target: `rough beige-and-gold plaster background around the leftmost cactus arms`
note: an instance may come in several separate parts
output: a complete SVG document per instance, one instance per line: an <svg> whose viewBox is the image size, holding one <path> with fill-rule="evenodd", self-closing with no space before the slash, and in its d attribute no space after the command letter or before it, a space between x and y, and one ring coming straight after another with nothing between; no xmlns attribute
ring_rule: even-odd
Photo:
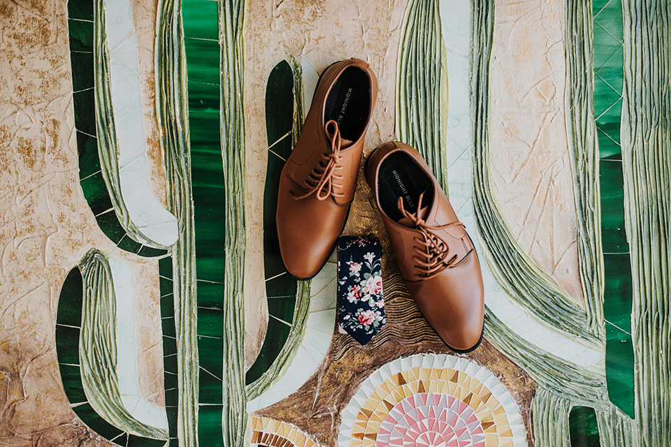
<svg viewBox="0 0 671 447"><path fill-rule="evenodd" d="M148 85L154 13L151 5L135 11L148 30L140 38L140 78ZM149 107L153 94L146 98ZM163 399L157 265L120 253L98 228L79 186L73 124L66 1L0 2L2 445L106 444L71 411L55 351L60 288L91 247L131 263L142 298L136 309L143 315L137 321L140 390L157 406ZM160 185L160 164L150 166Z"/></svg>

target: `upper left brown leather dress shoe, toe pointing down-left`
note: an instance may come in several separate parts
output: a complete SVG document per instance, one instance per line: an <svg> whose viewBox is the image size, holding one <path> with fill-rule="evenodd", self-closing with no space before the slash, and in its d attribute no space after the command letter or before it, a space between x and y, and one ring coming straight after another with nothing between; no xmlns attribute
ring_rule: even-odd
<svg viewBox="0 0 671 447"><path fill-rule="evenodd" d="M375 73L361 59L337 62L319 78L277 194L280 253L294 277L315 276L335 249L376 97Z"/></svg>

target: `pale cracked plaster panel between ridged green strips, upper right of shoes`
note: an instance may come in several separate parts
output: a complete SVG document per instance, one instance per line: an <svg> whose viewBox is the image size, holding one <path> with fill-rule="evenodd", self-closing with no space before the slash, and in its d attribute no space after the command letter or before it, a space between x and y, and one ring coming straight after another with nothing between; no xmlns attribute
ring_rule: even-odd
<svg viewBox="0 0 671 447"><path fill-rule="evenodd" d="M561 0L496 2L490 181L521 246L584 305L565 125L564 13Z"/></svg>

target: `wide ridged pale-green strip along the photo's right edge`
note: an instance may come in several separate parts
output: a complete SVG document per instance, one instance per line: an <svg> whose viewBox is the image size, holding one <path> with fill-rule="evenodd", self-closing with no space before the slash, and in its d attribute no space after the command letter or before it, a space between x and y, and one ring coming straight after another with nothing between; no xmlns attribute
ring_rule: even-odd
<svg viewBox="0 0 671 447"><path fill-rule="evenodd" d="M671 445L671 3L624 0L622 168L642 446Z"/></svg>

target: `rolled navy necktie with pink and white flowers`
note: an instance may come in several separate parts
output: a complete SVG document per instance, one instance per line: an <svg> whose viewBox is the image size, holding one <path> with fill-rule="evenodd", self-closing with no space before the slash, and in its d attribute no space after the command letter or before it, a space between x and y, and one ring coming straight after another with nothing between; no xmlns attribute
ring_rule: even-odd
<svg viewBox="0 0 671 447"><path fill-rule="evenodd" d="M366 344L384 326L380 242L361 236L338 239L340 331Z"/></svg>

